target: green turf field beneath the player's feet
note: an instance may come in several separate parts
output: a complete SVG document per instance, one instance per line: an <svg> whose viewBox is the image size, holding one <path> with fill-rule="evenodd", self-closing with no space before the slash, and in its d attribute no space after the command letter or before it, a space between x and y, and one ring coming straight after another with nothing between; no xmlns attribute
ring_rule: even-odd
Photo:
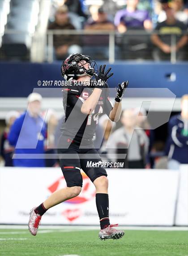
<svg viewBox="0 0 188 256"><path fill-rule="evenodd" d="M19 240L18 240L19 238ZM188 256L186 231L125 230L120 240L98 239L97 230L0 230L0 256Z"/></svg>

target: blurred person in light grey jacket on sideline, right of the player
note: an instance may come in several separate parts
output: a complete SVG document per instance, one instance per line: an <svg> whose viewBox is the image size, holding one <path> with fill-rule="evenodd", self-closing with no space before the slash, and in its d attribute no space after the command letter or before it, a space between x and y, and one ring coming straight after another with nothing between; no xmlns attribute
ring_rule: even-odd
<svg viewBox="0 0 188 256"><path fill-rule="evenodd" d="M115 130L107 142L108 158L116 162L124 162L123 168L145 168L149 140L145 132L137 126L135 109L122 112L123 127ZM113 149L111 146L113 145ZM118 159L118 155L127 154L126 158Z"/></svg>

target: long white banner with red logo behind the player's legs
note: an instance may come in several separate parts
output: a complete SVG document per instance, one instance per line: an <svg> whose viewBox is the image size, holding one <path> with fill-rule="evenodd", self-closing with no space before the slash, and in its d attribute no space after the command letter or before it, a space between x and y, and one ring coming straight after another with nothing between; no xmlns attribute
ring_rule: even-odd
<svg viewBox="0 0 188 256"><path fill-rule="evenodd" d="M178 171L108 169L107 173L112 224L174 224ZM60 168L2 167L0 183L1 224L27 224L32 207L66 187ZM81 194L49 209L42 224L99 224L95 188L85 174Z"/></svg>

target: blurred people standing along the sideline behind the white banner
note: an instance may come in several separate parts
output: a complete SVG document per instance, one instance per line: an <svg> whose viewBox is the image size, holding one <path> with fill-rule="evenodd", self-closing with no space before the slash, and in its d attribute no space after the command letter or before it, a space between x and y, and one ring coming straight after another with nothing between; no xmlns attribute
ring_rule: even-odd
<svg viewBox="0 0 188 256"><path fill-rule="evenodd" d="M42 101L32 93L26 111L7 114L0 146L4 166L59 166L56 148L64 116L59 119L52 109L42 112ZM118 123L101 116L94 144L103 162L123 162L123 168L179 169L188 164L188 94L181 99L181 112L168 122L166 141L155 138L147 112L133 108L124 109Z"/></svg>

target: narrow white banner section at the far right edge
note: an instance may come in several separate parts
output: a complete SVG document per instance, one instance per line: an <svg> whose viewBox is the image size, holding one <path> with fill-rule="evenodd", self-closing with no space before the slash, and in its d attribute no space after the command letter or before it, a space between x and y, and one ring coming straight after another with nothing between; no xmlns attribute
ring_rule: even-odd
<svg viewBox="0 0 188 256"><path fill-rule="evenodd" d="M180 165L179 194L175 225L188 226L188 165Z"/></svg>

